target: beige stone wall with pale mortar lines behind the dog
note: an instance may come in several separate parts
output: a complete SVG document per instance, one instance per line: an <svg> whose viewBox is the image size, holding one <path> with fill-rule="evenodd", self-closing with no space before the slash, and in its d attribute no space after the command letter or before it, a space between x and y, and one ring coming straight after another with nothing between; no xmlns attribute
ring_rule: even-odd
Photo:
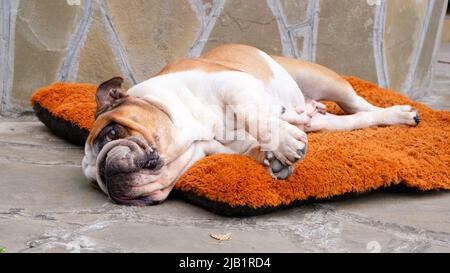
<svg viewBox="0 0 450 273"><path fill-rule="evenodd" d="M128 86L223 43L326 65L402 91L429 88L447 0L0 0L0 113L54 81Z"/></svg>

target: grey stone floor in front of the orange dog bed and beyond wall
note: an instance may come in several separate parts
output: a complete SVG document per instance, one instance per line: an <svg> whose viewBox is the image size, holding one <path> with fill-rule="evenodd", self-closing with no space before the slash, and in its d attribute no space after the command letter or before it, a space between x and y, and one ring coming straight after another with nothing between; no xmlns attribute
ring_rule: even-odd
<svg viewBox="0 0 450 273"><path fill-rule="evenodd" d="M450 61L444 49L440 60ZM424 101L449 109L450 64L439 63L436 76ZM0 248L8 252L450 252L449 192L379 192L224 218L179 200L112 204L84 179L82 149L34 119L0 119L0 150Z"/></svg>

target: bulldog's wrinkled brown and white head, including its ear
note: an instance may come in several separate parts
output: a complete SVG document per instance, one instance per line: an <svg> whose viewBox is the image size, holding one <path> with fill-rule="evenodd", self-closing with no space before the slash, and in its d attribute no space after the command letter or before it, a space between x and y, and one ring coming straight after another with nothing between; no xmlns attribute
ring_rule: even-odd
<svg viewBox="0 0 450 273"><path fill-rule="evenodd" d="M122 83L122 78L113 78L97 90L83 171L116 203L157 204L174 186L164 170L175 129L169 113L128 96Z"/></svg>

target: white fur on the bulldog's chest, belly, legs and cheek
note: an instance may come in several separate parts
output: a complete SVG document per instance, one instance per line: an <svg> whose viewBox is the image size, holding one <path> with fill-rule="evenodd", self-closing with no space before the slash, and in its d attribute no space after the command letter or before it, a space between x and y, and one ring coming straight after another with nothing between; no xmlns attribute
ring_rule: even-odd
<svg viewBox="0 0 450 273"><path fill-rule="evenodd" d="M272 151L286 166L295 163L300 159L298 151L306 145L306 135L302 131L305 120L311 122L306 127L308 131L353 130L380 124L414 123L417 113L411 107L374 107L358 97L353 90L350 90L353 93L350 93L348 100L352 101L348 101L348 105L356 113L354 115L317 114L311 119L306 117L306 113L299 114L296 112L298 107L308 109L315 102L308 100L305 105L302 90L291 75L266 53L259 53L272 70L273 77L267 83L244 72L205 72L194 69L160 75L128 90L130 96L148 100L164 108L177 129L177 134L170 140L170 147L164 151L167 164L161 178L147 186L151 187L155 199L164 200L178 177L209 154L246 154L257 148ZM334 87L333 80L326 84L330 85L327 92L332 90L336 98L340 94L349 94L349 90ZM315 83L311 80L305 86L313 88ZM305 92L313 93L313 90ZM321 98L321 94L316 95ZM227 116L228 108L236 115L245 113L244 120L248 124L256 123L257 131L248 131L244 126L227 126L227 121L234 120L234 115ZM283 115L282 108L286 110ZM255 118L252 116L254 114ZM265 120L274 121L275 124L272 125L275 126L264 126ZM230 131L242 134L244 138L221 138L224 132ZM107 192L105 185L97 177L96 155L90 145L86 145L83 171L86 177L91 181L97 180L102 190Z"/></svg>

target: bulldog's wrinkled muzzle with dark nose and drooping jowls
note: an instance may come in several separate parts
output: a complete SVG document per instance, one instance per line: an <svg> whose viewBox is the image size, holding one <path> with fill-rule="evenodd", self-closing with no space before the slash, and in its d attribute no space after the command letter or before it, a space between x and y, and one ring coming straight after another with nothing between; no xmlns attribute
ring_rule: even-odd
<svg viewBox="0 0 450 273"><path fill-rule="evenodd" d="M152 194L161 190L152 183L161 176L164 160L138 137L106 144L97 157L98 178L109 197L126 205L155 205ZM154 183L156 184L156 183Z"/></svg>

